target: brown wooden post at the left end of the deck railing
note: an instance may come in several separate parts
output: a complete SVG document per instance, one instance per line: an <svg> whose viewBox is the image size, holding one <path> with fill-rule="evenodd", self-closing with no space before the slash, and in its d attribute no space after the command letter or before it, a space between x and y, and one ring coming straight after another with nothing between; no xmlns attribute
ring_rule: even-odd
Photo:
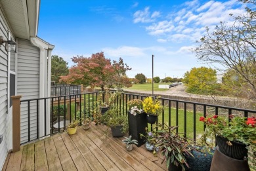
<svg viewBox="0 0 256 171"><path fill-rule="evenodd" d="M12 152L20 151L20 98L12 98Z"/></svg>

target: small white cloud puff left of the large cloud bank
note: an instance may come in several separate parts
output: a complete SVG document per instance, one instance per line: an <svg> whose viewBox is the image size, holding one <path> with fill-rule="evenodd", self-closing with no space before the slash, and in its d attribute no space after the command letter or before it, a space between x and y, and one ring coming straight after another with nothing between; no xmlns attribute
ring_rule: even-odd
<svg viewBox="0 0 256 171"><path fill-rule="evenodd" d="M150 7L145 7L144 10L137 10L133 14L133 22L134 23L154 22L154 20L156 20L156 18L158 18L160 16L160 12L159 11L154 11L152 13L152 15L150 16L151 12L149 10L150 10Z"/></svg>

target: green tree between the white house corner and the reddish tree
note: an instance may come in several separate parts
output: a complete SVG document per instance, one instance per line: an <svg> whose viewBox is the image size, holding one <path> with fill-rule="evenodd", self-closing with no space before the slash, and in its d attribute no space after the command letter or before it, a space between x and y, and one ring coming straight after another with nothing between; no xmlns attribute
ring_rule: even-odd
<svg viewBox="0 0 256 171"><path fill-rule="evenodd" d="M68 62L58 55L53 55L51 63L51 81L60 83L60 76L68 75Z"/></svg>

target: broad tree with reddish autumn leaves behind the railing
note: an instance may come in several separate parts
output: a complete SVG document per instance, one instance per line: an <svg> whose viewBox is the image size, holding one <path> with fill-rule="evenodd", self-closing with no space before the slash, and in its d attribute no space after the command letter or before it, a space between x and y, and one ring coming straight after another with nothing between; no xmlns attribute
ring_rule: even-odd
<svg viewBox="0 0 256 171"><path fill-rule="evenodd" d="M65 83L99 86L101 90L104 90L105 86L110 88L131 86L126 76L126 71L131 68L123 63L122 58L119 58L118 62L114 60L112 64L110 59L105 58L104 52L98 52L89 58L73 57L72 61L75 66L70 67L68 75L61 77Z"/></svg>

